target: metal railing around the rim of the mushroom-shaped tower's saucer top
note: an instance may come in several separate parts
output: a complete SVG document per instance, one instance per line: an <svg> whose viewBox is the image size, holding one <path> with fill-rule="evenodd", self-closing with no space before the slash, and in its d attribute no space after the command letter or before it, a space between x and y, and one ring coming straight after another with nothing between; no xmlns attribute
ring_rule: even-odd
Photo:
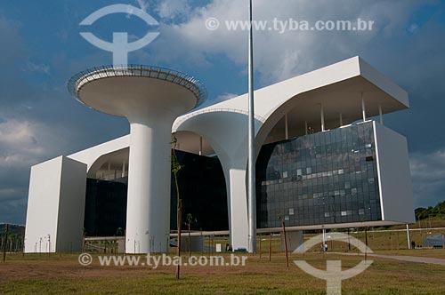
<svg viewBox="0 0 445 295"><path fill-rule="evenodd" d="M128 65L126 67L101 66L89 68L77 73L69 79L68 91L78 100L78 93L85 84L95 80L117 76L143 76L181 85L195 95L197 98L196 107L200 106L207 99L206 87L193 76L168 68L144 65Z"/></svg>

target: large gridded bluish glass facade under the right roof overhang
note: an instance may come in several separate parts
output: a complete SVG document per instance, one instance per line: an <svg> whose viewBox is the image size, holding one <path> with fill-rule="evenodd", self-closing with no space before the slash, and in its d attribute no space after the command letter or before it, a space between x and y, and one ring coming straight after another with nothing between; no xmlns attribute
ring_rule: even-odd
<svg viewBox="0 0 445 295"><path fill-rule="evenodd" d="M256 189L257 227L380 220L373 123L264 145Z"/></svg>

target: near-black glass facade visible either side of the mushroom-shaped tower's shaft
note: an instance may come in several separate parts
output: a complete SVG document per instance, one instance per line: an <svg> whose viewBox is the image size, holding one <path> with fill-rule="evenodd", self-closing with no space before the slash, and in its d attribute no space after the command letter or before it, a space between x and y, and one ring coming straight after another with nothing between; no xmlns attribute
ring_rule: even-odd
<svg viewBox="0 0 445 295"><path fill-rule="evenodd" d="M176 151L183 165L178 173L182 198L182 219L187 214L197 221L192 230L227 230L227 195L223 168L217 158ZM172 173L170 228L176 229L176 187ZM126 227L127 178L116 180L87 179L84 227L86 235L116 235Z"/></svg>

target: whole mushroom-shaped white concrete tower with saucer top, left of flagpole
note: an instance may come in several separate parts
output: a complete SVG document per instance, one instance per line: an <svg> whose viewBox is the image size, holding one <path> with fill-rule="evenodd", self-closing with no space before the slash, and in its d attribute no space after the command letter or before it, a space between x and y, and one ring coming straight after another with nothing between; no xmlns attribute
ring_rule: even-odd
<svg viewBox="0 0 445 295"><path fill-rule="evenodd" d="M166 252L170 233L171 132L174 120L206 100L191 76L165 68L103 67L71 78L85 105L130 123L127 253Z"/></svg>

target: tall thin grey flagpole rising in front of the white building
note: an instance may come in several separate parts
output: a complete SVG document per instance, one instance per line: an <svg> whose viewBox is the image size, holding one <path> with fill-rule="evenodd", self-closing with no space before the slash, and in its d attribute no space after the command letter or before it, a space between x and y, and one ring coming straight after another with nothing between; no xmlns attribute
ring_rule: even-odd
<svg viewBox="0 0 445 295"><path fill-rule="evenodd" d="M252 0L249 0L249 53L248 53L248 251L256 251L256 198L255 198L255 106L254 106L254 31L252 26Z"/></svg>

